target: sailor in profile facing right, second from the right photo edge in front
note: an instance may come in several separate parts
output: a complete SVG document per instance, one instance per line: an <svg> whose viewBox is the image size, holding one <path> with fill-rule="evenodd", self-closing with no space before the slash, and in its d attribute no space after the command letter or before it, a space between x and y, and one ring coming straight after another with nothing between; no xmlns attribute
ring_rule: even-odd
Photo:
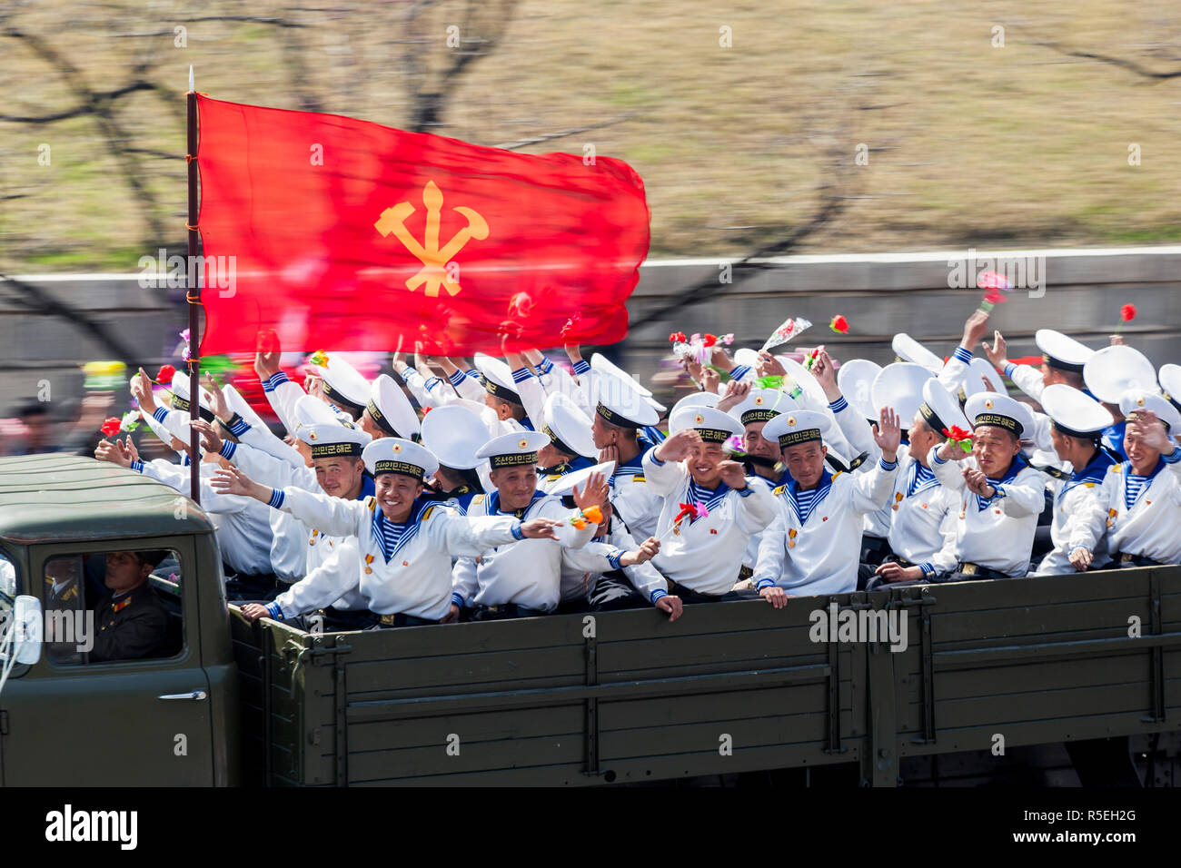
<svg viewBox="0 0 1181 868"><path fill-rule="evenodd" d="M1052 420L1055 450L1070 472L1065 478L1050 479L1048 485L1055 492L1050 526L1053 549L1042 559L1037 573L1053 575L1103 569L1109 561L1103 482L1116 458L1102 446L1102 437L1113 423L1111 413L1094 398L1064 383L1045 386L1040 400Z"/></svg>

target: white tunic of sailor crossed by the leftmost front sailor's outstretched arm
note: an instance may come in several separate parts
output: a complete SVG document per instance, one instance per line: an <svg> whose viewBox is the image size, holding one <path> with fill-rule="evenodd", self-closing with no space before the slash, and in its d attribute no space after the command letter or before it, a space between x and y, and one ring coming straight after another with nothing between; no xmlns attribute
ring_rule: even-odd
<svg viewBox="0 0 1181 868"><path fill-rule="evenodd" d="M468 516L498 516L500 492L477 495ZM540 612L553 612L561 600L562 550L582 548L590 541L595 524L581 530L569 524L573 513L562 502L540 491L533 502L514 514L521 521L555 518L559 540L521 540L497 546L479 557L461 557L451 573L451 601L457 606L502 606L516 603Z"/></svg>

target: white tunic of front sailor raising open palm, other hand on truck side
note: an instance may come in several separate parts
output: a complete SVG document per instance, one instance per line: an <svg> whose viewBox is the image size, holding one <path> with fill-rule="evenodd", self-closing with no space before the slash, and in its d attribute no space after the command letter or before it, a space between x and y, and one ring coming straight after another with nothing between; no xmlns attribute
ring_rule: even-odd
<svg viewBox="0 0 1181 868"><path fill-rule="evenodd" d="M763 531L755 587L778 585L798 595L856 589L862 517L886 503L896 474L898 462L879 459L866 474L824 470L808 491L795 481L777 488L777 515Z"/></svg>

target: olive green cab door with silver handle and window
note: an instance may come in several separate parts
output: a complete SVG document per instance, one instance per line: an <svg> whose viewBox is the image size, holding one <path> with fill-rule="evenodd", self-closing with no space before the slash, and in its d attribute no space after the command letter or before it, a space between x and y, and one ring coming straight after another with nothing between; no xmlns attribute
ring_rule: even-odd
<svg viewBox="0 0 1181 868"><path fill-rule="evenodd" d="M41 600L45 641L0 696L5 785L213 784L195 550L183 537L148 546L28 549L17 581Z"/></svg>

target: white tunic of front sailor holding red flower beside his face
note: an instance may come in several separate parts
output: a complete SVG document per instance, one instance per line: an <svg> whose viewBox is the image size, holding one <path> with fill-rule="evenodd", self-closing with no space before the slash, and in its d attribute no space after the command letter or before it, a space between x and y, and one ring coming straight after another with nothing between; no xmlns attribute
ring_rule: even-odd
<svg viewBox="0 0 1181 868"><path fill-rule="evenodd" d="M955 560L996 569L1009 576L1025 575L1033 550L1037 520L1045 509L1045 477L1018 455L991 500L967 490L964 468L979 470L974 457L941 461L932 450L931 469L947 490L955 528ZM955 510L959 510L958 513Z"/></svg>

